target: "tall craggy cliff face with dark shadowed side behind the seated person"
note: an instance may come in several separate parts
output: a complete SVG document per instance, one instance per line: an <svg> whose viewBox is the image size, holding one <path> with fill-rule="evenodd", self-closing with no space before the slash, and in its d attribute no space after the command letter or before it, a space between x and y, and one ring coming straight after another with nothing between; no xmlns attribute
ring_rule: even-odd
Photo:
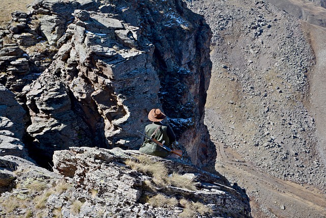
<svg viewBox="0 0 326 218"><path fill-rule="evenodd" d="M28 112L32 157L138 149L136 130L159 107L192 161L213 166L203 124L211 32L182 1L45 0L12 15L0 32L0 82Z"/></svg>

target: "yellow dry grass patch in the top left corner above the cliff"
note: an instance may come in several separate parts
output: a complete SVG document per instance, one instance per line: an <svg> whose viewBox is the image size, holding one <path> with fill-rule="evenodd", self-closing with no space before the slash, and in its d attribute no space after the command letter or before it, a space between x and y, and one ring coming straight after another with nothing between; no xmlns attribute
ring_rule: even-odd
<svg viewBox="0 0 326 218"><path fill-rule="evenodd" d="M0 25L10 21L11 13L14 11L27 12L27 5L31 4L33 0L2 0L0 4Z"/></svg>

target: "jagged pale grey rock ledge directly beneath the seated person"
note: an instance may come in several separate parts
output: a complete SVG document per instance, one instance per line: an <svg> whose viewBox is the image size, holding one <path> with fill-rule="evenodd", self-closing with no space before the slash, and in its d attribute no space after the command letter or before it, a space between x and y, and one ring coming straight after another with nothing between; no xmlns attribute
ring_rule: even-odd
<svg viewBox="0 0 326 218"><path fill-rule="evenodd" d="M163 163L169 175L178 173L193 178L196 190L172 185L149 190L146 181L152 181L152 175L135 171L125 164L128 159L137 161L140 155L143 154L120 148L107 150L73 147L69 151L55 152L53 171L70 178L71 182L78 184L80 190L83 190L79 194L85 195L84 205L88 206L79 215L83 213L88 216L92 211L104 209L111 211L115 217L179 217L183 208L178 205L155 208L144 202L144 199L160 193L166 197L173 196L177 200L200 202L212 209L213 212L209 215L211 217L226 217L230 214L249 217L249 199L240 187L231 186L217 172L211 174L202 171L183 160L148 156L154 162ZM90 192L96 192L96 197L90 199Z"/></svg>

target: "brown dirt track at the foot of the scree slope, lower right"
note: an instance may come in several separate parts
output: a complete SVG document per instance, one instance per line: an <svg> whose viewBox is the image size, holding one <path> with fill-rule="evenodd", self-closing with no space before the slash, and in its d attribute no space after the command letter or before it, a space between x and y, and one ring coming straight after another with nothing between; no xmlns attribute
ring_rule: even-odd
<svg viewBox="0 0 326 218"><path fill-rule="evenodd" d="M317 188L264 174L223 143L214 143L216 169L246 188L254 217L326 217L326 196Z"/></svg>

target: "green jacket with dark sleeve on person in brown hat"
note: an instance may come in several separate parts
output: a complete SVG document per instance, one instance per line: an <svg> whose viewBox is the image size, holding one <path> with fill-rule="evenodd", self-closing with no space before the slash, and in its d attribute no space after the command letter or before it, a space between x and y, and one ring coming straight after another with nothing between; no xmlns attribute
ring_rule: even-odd
<svg viewBox="0 0 326 218"><path fill-rule="evenodd" d="M157 141L161 143L165 141L164 145L169 148L172 148L172 142L175 141L175 135L172 129L168 125L161 124L159 122L154 122L152 124L149 124L145 127L145 135L151 137L151 135L155 132L158 126L161 127L153 135L153 138L155 138ZM158 157L166 157L169 155L168 151L162 149L155 142L152 142L147 138L145 138L139 151L145 154L154 155Z"/></svg>

